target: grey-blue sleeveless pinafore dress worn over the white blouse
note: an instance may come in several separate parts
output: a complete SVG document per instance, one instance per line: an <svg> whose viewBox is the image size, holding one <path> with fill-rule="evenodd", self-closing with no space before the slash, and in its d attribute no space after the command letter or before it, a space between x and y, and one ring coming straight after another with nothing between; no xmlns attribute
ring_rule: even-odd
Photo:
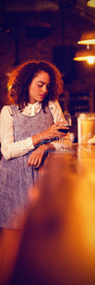
<svg viewBox="0 0 95 285"><path fill-rule="evenodd" d="M46 130L53 124L48 106L35 116L23 115L16 105L11 105L13 113L14 141L25 140ZM0 162L0 227L21 228L23 213L29 205L28 189L38 181L38 170L28 167L30 153L11 160L2 157Z"/></svg>

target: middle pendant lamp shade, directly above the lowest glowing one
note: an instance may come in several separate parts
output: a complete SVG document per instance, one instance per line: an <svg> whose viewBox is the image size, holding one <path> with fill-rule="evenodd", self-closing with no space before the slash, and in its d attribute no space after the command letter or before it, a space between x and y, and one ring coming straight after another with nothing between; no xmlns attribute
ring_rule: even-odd
<svg viewBox="0 0 95 285"><path fill-rule="evenodd" d="M84 32L78 43L80 45L95 45L95 30Z"/></svg>

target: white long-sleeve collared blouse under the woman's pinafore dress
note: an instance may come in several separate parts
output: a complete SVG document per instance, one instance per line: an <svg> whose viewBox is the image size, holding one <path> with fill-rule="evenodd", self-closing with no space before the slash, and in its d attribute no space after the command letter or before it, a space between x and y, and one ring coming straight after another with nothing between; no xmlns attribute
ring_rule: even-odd
<svg viewBox="0 0 95 285"><path fill-rule="evenodd" d="M35 104L28 104L23 109L23 114L26 116L35 116L36 113L40 111L41 104L36 102ZM62 109L60 104L56 100L55 102L49 102L49 108L52 113L54 123L61 121L63 117ZM20 157L26 155L30 150L33 150L32 138L26 138L25 140L20 140L14 142L13 137L13 116L11 116L11 106L4 106L1 109L1 153L4 155L6 160L11 160L13 157ZM60 150L60 141L53 141L52 145L55 146L56 150Z"/></svg>

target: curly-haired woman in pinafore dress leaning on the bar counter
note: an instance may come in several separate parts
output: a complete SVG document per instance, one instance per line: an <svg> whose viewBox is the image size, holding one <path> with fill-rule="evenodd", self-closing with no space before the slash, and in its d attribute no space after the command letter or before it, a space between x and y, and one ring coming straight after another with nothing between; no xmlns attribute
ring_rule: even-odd
<svg viewBox="0 0 95 285"><path fill-rule="evenodd" d="M38 167L48 150L60 150L65 133L57 98L62 77L47 62L26 62L9 79L12 105L1 110L1 217L2 228L21 227L28 206L28 188L38 181Z"/></svg>

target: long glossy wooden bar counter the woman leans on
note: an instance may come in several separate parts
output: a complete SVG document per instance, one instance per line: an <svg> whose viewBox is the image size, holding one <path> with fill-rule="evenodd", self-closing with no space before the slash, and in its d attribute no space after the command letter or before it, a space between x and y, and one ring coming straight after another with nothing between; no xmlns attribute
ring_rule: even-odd
<svg viewBox="0 0 95 285"><path fill-rule="evenodd" d="M47 156L9 285L95 284L94 173L94 145Z"/></svg>

